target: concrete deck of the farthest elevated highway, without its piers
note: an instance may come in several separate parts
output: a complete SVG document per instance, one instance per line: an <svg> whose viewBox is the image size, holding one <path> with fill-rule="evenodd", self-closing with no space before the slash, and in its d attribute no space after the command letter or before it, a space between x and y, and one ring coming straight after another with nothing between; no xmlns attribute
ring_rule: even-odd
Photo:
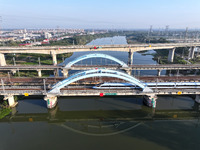
<svg viewBox="0 0 200 150"><path fill-rule="evenodd" d="M157 49L173 49L177 47L198 47L198 43L158 43L158 44L126 44L126 45L98 45L96 49L94 46L79 45L79 46L37 46L37 47L0 47L0 53L37 53L37 54L56 54L83 52L83 51L123 51L133 52L157 50Z"/></svg>

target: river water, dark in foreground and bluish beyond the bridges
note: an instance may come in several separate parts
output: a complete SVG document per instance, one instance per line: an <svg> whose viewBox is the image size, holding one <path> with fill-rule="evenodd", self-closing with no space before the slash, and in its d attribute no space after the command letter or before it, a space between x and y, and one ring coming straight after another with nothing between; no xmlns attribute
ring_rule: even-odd
<svg viewBox="0 0 200 150"><path fill-rule="evenodd" d="M114 37L89 44L124 42L124 37ZM102 53L124 62L128 58L124 52ZM74 53L66 63L83 54ZM156 62L151 55L135 53L134 64ZM0 120L0 150L199 150L200 106L191 97L159 96L156 109L144 106L142 97L137 96L58 100L53 110L46 109L42 98L19 100L12 114Z"/></svg>

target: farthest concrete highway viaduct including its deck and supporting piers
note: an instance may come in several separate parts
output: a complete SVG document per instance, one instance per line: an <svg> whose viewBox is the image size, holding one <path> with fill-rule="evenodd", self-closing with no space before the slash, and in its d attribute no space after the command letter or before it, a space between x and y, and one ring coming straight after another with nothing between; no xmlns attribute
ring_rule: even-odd
<svg viewBox="0 0 200 150"><path fill-rule="evenodd" d="M190 47L189 58L194 57L196 47L200 47L200 43L164 43L164 44L134 44L134 45L99 45L98 47L82 45L82 46L38 46L38 47L0 47L0 66L6 65L4 54L10 53L34 53L49 54L52 56L53 64L57 65L57 54L84 52L84 51L122 51L128 52L128 63L132 64L133 54L137 51L147 50L169 50L168 61L173 62L175 49L178 47Z"/></svg>

